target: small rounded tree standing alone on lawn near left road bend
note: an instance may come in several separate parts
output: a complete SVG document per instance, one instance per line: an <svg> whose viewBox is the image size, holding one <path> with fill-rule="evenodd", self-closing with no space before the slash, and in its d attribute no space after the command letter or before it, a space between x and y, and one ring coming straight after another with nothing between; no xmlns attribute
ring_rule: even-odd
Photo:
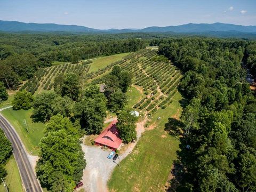
<svg viewBox="0 0 256 192"><path fill-rule="evenodd" d="M19 91L14 95L14 99L12 101L12 108L14 110L28 110L32 107L32 105L33 95L31 93L28 93L26 90Z"/></svg>

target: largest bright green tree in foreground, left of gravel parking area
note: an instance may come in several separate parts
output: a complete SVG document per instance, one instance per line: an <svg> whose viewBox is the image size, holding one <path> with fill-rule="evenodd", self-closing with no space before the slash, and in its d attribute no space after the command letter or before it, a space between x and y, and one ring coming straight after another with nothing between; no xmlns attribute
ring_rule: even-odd
<svg viewBox="0 0 256 192"><path fill-rule="evenodd" d="M65 130L49 132L39 143L36 175L47 190L73 191L85 168L84 153L76 137ZM59 180L61 179L61 180Z"/></svg>

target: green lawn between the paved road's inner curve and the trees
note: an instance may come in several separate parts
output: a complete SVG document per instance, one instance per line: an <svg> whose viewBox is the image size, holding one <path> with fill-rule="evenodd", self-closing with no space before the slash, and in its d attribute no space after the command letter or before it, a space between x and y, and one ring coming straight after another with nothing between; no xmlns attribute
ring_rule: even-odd
<svg viewBox="0 0 256 192"><path fill-rule="evenodd" d="M32 110L33 109L15 111L12 109L5 109L2 111L2 114L14 126L27 151L33 151L34 155L38 155L38 143L43 137L44 124L32 122L32 119L30 118ZM24 119L26 119L28 132L26 130Z"/></svg>

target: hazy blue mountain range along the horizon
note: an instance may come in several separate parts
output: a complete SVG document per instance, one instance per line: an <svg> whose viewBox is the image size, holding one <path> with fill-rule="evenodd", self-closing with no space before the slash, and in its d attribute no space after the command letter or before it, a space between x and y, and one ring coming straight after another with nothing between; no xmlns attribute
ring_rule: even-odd
<svg viewBox="0 0 256 192"><path fill-rule="evenodd" d="M24 23L18 21L1 21L0 31L5 32L54 32L63 31L70 33L256 33L256 26L242 26L227 23L188 23L179 26L147 27L143 29L93 29L77 25L58 25L55 23Z"/></svg>

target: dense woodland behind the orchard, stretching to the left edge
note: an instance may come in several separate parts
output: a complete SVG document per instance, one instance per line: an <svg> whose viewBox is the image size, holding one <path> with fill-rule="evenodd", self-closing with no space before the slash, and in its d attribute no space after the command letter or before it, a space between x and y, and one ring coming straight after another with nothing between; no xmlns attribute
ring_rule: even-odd
<svg viewBox="0 0 256 192"><path fill-rule="evenodd" d="M99 55L138 51L147 41L136 36L1 34L0 82L16 90L38 68L49 67L53 61L76 63Z"/></svg>

